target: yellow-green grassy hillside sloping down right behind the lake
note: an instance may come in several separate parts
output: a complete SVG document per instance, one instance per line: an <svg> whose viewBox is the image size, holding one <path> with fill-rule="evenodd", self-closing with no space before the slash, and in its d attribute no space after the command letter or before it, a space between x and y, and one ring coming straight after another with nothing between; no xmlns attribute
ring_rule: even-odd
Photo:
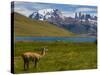
<svg viewBox="0 0 100 75"><path fill-rule="evenodd" d="M56 27L46 21L33 20L18 13L13 14L15 36L66 37L74 35L73 33Z"/></svg>

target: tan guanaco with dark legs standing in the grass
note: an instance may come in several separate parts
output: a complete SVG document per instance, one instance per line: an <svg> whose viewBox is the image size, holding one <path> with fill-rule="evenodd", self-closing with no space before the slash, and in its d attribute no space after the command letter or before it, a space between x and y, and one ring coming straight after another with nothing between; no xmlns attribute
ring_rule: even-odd
<svg viewBox="0 0 100 75"><path fill-rule="evenodd" d="M22 54L22 58L24 61L24 70L29 69L29 62L30 60L35 64L34 67L37 67L39 59L45 55L45 48L42 49L41 54L36 52L25 52Z"/></svg>

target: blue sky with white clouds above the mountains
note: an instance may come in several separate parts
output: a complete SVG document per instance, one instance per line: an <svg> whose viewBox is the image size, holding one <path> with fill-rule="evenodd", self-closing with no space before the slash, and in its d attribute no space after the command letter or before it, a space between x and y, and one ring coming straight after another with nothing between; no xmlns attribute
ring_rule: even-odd
<svg viewBox="0 0 100 75"><path fill-rule="evenodd" d="M34 2L14 2L14 9L16 12L29 16L34 10L40 9L59 9L66 16L74 16L75 12L88 13L97 15L96 6L81 6L81 5L68 5L68 4L51 4L51 3L34 3Z"/></svg>

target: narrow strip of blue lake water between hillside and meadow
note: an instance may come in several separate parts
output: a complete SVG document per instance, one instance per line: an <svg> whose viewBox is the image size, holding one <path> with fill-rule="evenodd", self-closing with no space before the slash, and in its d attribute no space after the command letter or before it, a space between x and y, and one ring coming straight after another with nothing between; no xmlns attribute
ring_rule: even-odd
<svg viewBox="0 0 100 75"><path fill-rule="evenodd" d="M16 37L16 41L65 41L65 42L94 42L96 38L88 37Z"/></svg>

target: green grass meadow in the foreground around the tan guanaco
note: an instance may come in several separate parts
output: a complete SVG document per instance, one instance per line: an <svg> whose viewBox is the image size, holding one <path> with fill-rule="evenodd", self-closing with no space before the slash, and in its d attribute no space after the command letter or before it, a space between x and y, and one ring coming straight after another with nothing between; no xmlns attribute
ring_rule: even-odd
<svg viewBox="0 0 100 75"><path fill-rule="evenodd" d="M30 63L28 71L23 70L20 55L36 48L48 46L48 52L40 59L38 68ZM16 42L14 50L14 72L34 73L49 71L67 71L97 68L97 47L95 43L67 43L67 42Z"/></svg>

